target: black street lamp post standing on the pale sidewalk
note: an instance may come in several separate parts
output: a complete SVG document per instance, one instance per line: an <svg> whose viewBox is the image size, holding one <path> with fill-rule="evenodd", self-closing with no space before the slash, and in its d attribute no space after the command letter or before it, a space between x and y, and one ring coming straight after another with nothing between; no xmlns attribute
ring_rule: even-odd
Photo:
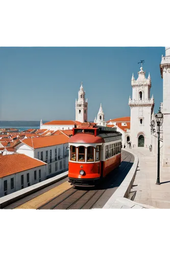
<svg viewBox="0 0 170 256"><path fill-rule="evenodd" d="M158 113L155 114L155 120L157 123L157 134L158 134L158 167L157 167L157 181L156 185L160 185L160 125L162 124L163 121L163 114L161 110L159 109ZM155 132L155 121L151 121L151 130Z"/></svg>

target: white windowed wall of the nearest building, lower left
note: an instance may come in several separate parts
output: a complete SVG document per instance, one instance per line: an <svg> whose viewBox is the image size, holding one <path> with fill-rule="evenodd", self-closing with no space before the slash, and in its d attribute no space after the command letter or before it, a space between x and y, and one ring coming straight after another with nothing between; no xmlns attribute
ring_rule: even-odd
<svg viewBox="0 0 170 256"><path fill-rule="evenodd" d="M4 181L7 180L7 195L18 191L21 189L21 175L23 175L23 188L28 187L28 182L27 182L27 174L30 174L30 186L34 185L39 182L39 169L41 170L41 181L46 179L46 175L48 175L48 169L46 168L46 165L39 166L37 168L25 170L23 172L9 175L6 177L3 177L0 179L0 197L5 196L5 191L4 191ZM37 177L36 180L34 179L34 171L37 171ZM14 178L14 188L11 189L11 178Z"/></svg>

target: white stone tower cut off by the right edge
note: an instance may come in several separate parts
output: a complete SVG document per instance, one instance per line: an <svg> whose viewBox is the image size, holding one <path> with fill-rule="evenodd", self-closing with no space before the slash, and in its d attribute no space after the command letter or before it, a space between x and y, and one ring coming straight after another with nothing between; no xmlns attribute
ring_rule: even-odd
<svg viewBox="0 0 170 256"><path fill-rule="evenodd" d="M160 64L163 78L163 166L170 166L170 45L165 46L165 57Z"/></svg>

